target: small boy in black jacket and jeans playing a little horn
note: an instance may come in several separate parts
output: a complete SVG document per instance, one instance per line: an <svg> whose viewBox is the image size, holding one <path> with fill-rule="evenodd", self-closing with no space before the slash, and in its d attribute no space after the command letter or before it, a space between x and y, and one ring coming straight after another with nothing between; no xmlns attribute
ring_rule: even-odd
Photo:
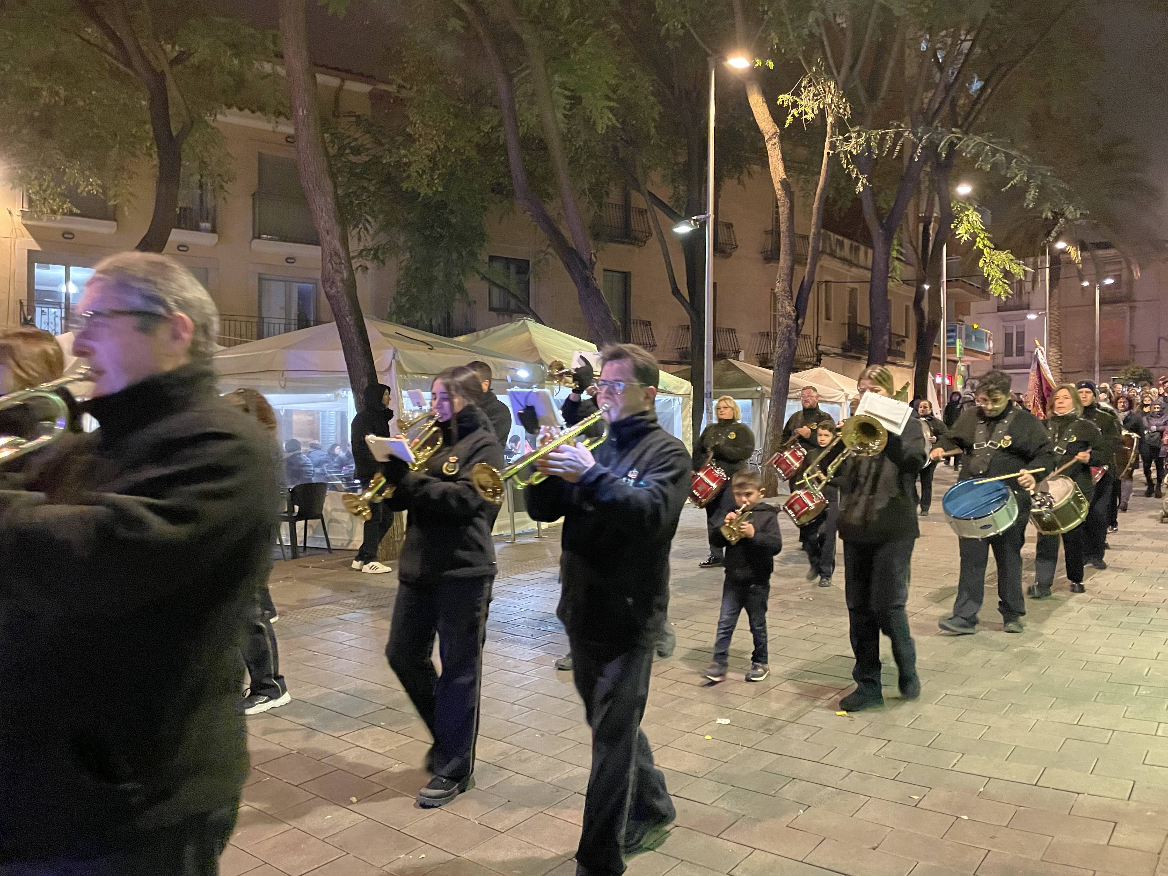
<svg viewBox="0 0 1168 876"><path fill-rule="evenodd" d="M718 617L717 640L714 642L714 661L705 668L710 681L726 677L726 653L730 638L738 625L738 616L746 610L750 633L755 638L755 651L750 658L746 681L763 681L771 674L766 653L766 603L771 597L771 572L774 571L774 555L783 550L777 509L760 505L763 478L758 472L743 470L735 472L730 481L736 508L746 506L751 512L750 522L743 524L743 537L730 544L721 529L715 529L712 540L725 548L723 568L725 582L722 584L722 613ZM737 512L726 514L726 523L737 519Z"/></svg>

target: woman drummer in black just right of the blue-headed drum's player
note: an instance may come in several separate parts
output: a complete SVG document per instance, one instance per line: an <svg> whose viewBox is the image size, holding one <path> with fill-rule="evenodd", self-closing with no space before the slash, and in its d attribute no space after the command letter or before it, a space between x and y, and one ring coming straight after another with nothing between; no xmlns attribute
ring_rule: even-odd
<svg viewBox="0 0 1168 876"><path fill-rule="evenodd" d="M1091 482L1091 466L1099 464L1098 449L1103 447L1103 432L1090 419L1083 417L1083 402L1071 383L1063 383L1055 389L1047 411L1047 434L1055 445L1055 465L1062 467L1073 460L1063 471L1072 479L1083 498L1091 501L1094 484ZM1084 523L1063 533L1063 550L1066 552L1066 578L1071 582L1071 592L1082 593L1083 588L1083 549ZM1027 590L1027 596L1034 599L1045 599L1055 583L1055 566L1058 564L1058 536L1038 533L1038 545L1034 558L1035 583Z"/></svg>

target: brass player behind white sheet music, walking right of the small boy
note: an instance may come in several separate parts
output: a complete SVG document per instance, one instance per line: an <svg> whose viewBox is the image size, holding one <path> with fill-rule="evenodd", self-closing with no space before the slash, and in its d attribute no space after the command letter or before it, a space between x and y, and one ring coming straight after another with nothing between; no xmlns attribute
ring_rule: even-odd
<svg viewBox="0 0 1168 876"><path fill-rule="evenodd" d="M869 366L857 388L891 398L892 374ZM884 704L881 690L880 634L892 642L901 696L920 695L917 648L909 632L904 604L909 598L909 564L920 535L917 523L917 472L926 459L920 420L910 418L901 434L872 457L851 457L832 482L840 491L840 537L843 538L843 592L848 630L856 658L851 677L856 689L840 700L843 711ZM826 461L826 460L825 460Z"/></svg>

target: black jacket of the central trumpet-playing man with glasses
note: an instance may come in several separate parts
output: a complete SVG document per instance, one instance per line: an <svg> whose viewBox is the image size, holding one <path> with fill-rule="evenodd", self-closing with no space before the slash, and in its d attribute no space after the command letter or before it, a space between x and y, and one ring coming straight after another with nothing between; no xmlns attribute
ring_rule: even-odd
<svg viewBox="0 0 1168 876"><path fill-rule="evenodd" d="M524 491L545 523L564 517L557 617L569 637L616 655L652 646L669 605L669 544L689 494L689 453L647 410L613 423L578 484Z"/></svg>

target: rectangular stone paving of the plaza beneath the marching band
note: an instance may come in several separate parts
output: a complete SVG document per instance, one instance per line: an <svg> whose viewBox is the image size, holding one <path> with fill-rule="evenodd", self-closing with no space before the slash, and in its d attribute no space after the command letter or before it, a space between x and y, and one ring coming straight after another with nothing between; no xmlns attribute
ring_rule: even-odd
<svg viewBox="0 0 1168 876"><path fill-rule="evenodd" d="M1138 479L1110 536L1111 568L1089 570L1086 593L1069 593L1059 566L1055 597L1030 602L1026 632L1007 635L990 584L981 631L954 638L937 630L958 575L939 499L951 481L938 474L913 554L920 698L898 698L894 667L885 708L858 715L836 712L853 662L842 555L835 586L808 583L785 520L771 676L743 680L743 618L729 680L704 682L721 573L696 568L704 514L686 509L673 550L677 649L654 667L644 722L677 820L659 848L628 860L631 876L1168 876L1159 501ZM570 673L552 666L566 649L557 536L500 542L478 786L442 809L413 802L429 737L383 654L394 576L352 572L341 552L277 563L276 630L296 700L248 719L252 771L223 876L575 872L590 745ZM1023 556L1029 584L1033 530Z"/></svg>

